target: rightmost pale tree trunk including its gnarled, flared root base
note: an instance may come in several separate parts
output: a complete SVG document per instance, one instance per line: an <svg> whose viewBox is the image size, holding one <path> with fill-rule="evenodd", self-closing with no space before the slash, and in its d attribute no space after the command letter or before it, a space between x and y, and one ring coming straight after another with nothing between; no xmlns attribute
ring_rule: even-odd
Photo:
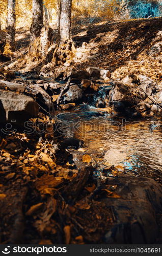
<svg viewBox="0 0 162 256"><path fill-rule="evenodd" d="M57 0L57 4L58 4L57 40L55 44L52 44L52 45L50 44L50 47L47 49L47 51L44 51L44 52L42 51L42 53L44 56L45 65L48 62L51 62L51 66L56 65L56 66L69 67L71 63L74 61L74 58L76 56L76 49L71 36L72 0ZM49 38L49 35L48 35L48 38ZM46 56L45 56L45 52L46 52ZM42 68L42 70L43 69L44 68Z"/></svg>

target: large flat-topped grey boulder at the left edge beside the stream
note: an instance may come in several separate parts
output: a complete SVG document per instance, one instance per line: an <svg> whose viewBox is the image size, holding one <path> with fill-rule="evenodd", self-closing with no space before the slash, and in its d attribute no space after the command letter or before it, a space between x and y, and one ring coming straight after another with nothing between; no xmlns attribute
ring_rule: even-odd
<svg viewBox="0 0 162 256"><path fill-rule="evenodd" d="M31 97L0 90L0 122L22 125L31 117L37 117L39 105Z"/></svg>

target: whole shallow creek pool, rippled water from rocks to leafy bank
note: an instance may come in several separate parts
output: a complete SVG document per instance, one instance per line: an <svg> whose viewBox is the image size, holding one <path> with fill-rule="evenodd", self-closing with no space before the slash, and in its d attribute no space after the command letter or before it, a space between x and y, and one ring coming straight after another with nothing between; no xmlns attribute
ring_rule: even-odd
<svg viewBox="0 0 162 256"><path fill-rule="evenodd" d="M59 115L68 127L66 137L83 140L85 154L100 159L96 174L110 164L121 172L162 175L162 134L154 120L126 120L99 113L103 116L98 116L97 109Z"/></svg>

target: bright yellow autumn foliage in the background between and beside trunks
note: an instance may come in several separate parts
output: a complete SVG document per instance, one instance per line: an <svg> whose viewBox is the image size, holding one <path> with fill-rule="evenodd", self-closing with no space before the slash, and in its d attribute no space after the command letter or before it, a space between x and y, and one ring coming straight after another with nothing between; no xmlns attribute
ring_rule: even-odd
<svg viewBox="0 0 162 256"><path fill-rule="evenodd" d="M47 10L50 26L57 23L58 0L43 0L43 7ZM0 0L0 24L2 29L6 27L8 0ZM87 23L97 18L112 20L118 18L121 11L121 3L118 0L73 0L72 22ZM16 1L16 26L30 27L32 21L32 0Z"/></svg>

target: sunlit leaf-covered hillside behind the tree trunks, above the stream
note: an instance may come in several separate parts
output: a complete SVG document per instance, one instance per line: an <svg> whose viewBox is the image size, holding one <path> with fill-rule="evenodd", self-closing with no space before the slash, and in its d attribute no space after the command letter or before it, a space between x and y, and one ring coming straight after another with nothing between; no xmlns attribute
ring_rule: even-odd
<svg viewBox="0 0 162 256"><path fill-rule="evenodd" d="M80 55L70 69L80 70L91 66L109 69L113 79L121 80L127 74L140 73L157 82L161 81L161 54L154 56L150 52L151 47L161 41L161 21L160 17L75 25L72 29L72 36ZM16 34L16 41L15 58L18 60L16 62L18 70L19 62L23 60L30 42L30 31L20 28ZM83 42L87 43L86 49L80 49ZM11 69L12 67L13 65L9 66ZM27 67L20 64L20 70L39 71L40 67L36 63L33 63L33 67L31 64ZM49 75L53 72L50 70Z"/></svg>

